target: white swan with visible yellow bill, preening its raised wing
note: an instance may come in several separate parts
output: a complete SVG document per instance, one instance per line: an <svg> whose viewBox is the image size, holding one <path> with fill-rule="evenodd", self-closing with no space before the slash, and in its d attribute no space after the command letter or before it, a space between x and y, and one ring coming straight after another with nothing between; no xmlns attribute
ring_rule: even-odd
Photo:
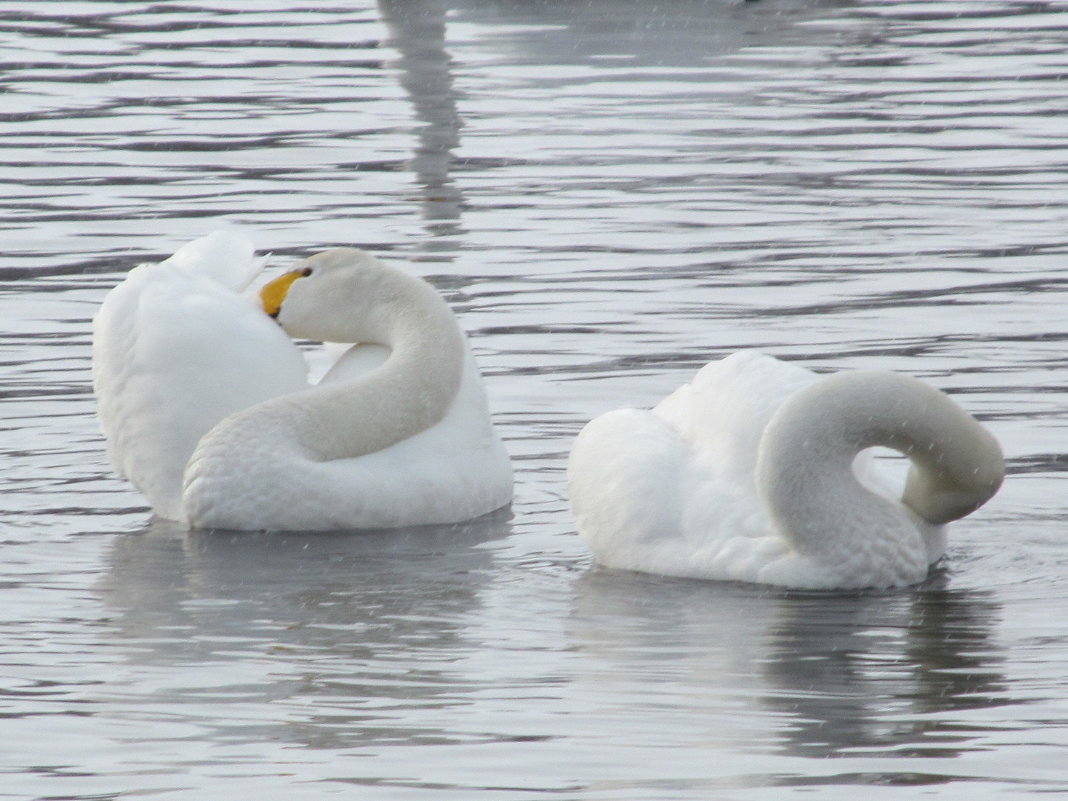
<svg viewBox="0 0 1068 801"><path fill-rule="evenodd" d="M94 318L109 456L157 515L195 528L394 528L511 502L482 379L429 284L337 249L268 284L257 308L239 290L258 269L247 238L217 232L135 268ZM354 345L309 388L286 332Z"/></svg>

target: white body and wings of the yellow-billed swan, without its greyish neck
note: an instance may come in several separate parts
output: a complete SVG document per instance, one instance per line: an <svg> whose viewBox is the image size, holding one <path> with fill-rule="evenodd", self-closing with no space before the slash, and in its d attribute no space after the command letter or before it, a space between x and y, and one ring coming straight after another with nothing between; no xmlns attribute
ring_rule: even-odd
<svg viewBox="0 0 1068 801"><path fill-rule="evenodd" d="M507 455L459 333L460 389L436 424L355 458L287 442L286 414L325 441L343 439L348 420L309 422L310 410L324 408L324 393L344 395L388 372L391 348L356 345L309 388L300 350L239 294L260 267L246 237L217 232L132 270L94 319L109 455L159 516L201 528L379 528L456 522L511 501ZM314 304L314 293L301 302Z"/></svg>

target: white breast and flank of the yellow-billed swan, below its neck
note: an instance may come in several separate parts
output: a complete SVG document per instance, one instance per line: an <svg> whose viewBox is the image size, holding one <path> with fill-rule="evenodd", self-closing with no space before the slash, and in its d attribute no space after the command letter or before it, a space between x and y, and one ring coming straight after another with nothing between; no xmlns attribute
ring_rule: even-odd
<svg viewBox="0 0 1068 801"><path fill-rule="evenodd" d="M328 374L324 380L343 379ZM285 400L300 413L299 395ZM210 455L198 451L186 476L189 517L222 529L379 529L459 522L512 500L511 467L471 359L456 403L438 425L360 457L302 460L299 470L279 454L255 438ZM226 467L238 458L246 470ZM224 482L216 481L217 471L225 472ZM262 486L271 487L270 498L250 503Z"/></svg>

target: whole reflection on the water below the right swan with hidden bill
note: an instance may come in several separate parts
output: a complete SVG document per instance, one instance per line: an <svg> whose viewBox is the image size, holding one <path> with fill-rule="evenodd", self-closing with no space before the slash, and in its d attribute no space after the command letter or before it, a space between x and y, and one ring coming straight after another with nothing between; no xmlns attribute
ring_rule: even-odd
<svg viewBox="0 0 1068 801"><path fill-rule="evenodd" d="M595 569L577 590L570 631L611 705L604 736L686 725L710 753L951 757L985 733L958 712L1011 703L1000 603L942 575L828 594Z"/></svg>

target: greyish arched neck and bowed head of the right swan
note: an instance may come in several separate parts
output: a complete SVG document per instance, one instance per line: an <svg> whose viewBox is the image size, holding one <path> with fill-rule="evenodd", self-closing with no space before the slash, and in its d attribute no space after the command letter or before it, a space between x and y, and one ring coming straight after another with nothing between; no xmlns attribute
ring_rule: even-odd
<svg viewBox="0 0 1068 801"><path fill-rule="evenodd" d="M998 441L944 393L908 376L842 373L797 392L775 412L757 456L772 518L801 553L834 557L843 538L909 529L899 508L853 474L857 454L882 445L912 461L901 502L941 524L1001 486Z"/></svg>

